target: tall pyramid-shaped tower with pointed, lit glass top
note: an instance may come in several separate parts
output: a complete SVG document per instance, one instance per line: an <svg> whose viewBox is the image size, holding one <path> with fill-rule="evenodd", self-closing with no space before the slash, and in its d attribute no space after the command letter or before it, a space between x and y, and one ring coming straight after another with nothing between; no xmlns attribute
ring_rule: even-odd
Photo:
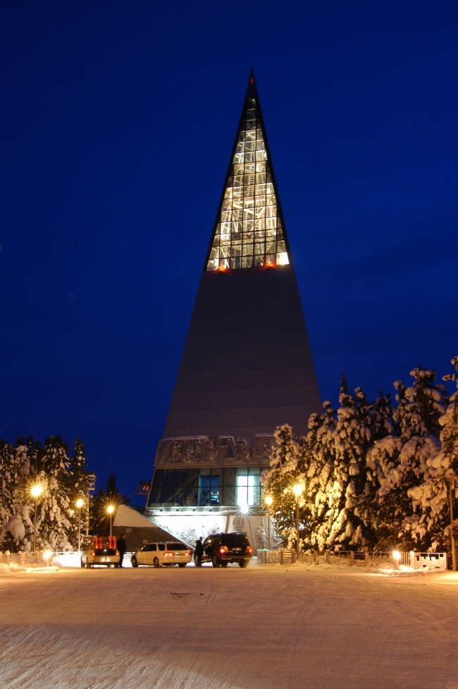
<svg viewBox="0 0 458 689"><path fill-rule="evenodd" d="M251 73L147 512L255 509L276 426L305 434L320 409Z"/></svg>

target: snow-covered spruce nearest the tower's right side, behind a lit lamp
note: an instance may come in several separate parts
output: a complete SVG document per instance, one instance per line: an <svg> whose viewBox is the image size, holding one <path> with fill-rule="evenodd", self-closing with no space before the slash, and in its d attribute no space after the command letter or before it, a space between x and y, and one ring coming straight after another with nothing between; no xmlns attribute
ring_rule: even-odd
<svg viewBox="0 0 458 689"><path fill-rule="evenodd" d="M275 536L287 544L296 547L296 496L293 487L299 484L303 488L299 496L299 548L304 542L304 531L309 523L307 484L304 464L304 441L297 439L292 427L288 424L277 426L274 432L276 439L271 452L271 469L264 479L264 495L272 497L271 513L275 524ZM304 490L305 489L305 490Z"/></svg>

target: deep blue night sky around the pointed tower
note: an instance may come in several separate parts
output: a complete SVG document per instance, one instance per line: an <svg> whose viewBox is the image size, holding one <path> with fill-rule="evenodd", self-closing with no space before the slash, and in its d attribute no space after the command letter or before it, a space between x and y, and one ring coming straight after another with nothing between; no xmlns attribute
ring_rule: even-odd
<svg viewBox="0 0 458 689"><path fill-rule="evenodd" d="M323 400L452 370L456 2L4 0L0 31L1 438L81 437L144 504L251 67Z"/></svg>

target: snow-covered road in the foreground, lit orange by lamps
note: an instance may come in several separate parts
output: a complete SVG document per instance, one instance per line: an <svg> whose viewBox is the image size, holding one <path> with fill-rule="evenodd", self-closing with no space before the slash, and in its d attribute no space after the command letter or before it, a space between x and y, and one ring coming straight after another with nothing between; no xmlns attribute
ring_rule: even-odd
<svg viewBox="0 0 458 689"><path fill-rule="evenodd" d="M62 569L0 601L5 689L458 689L453 573Z"/></svg>

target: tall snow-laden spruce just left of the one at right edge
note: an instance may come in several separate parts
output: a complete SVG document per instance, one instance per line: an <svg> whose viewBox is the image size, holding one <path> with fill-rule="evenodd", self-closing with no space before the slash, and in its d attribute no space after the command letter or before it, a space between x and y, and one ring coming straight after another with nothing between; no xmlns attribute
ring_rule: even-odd
<svg viewBox="0 0 458 689"><path fill-rule="evenodd" d="M436 486L431 500L422 502L419 487L435 473L445 388L435 384L434 371L416 368L411 376L412 386L395 383L398 406L392 433L377 441L367 456L368 477L378 484L373 526L380 550L431 549L440 531L440 490Z"/></svg>

